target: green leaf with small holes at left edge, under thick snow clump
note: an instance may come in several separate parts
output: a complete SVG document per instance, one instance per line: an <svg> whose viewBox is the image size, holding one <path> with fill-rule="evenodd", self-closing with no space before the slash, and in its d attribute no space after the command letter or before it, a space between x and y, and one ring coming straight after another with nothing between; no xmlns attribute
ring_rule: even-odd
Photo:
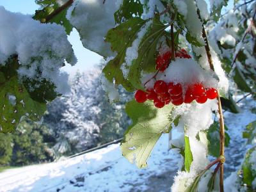
<svg viewBox="0 0 256 192"><path fill-rule="evenodd" d="M0 65L0 132L12 132L24 115L31 120L40 120L46 104L31 99L28 90L17 75L17 58Z"/></svg>

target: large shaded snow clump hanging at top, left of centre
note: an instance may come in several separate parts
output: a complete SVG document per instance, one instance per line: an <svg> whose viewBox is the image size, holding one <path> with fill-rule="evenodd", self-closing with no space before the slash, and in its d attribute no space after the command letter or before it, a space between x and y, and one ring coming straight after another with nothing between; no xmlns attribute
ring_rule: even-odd
<svg viewBox="0 0 256 192"><path fill-rule="evenodd" d="M108 0L77 0L67 13L70 20L80 34L84 47L102 56L111 56L113 52L109 44L104 42L109 29L115 27L114 13L122 1Z"/></svg>

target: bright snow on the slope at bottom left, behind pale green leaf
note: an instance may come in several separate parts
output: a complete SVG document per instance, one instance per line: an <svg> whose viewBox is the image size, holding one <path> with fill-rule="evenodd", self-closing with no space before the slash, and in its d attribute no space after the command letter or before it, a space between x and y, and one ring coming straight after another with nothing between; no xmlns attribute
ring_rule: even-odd
<svg viewBox="0 0 256 192"><path fill-rule="evenodd" d="M122 156L118 143L83 156L0 173L0 188L1 191L131 191L134 188L146 191L145 180L166 170L176 172L177 157L168 152L166 134L154 148L147 169L140 170L129 163ZM84 181L77 182L77 178L84 178ZM76 183L71 184L72 181ZM140 185L136 186L138 183Z"/></svg>

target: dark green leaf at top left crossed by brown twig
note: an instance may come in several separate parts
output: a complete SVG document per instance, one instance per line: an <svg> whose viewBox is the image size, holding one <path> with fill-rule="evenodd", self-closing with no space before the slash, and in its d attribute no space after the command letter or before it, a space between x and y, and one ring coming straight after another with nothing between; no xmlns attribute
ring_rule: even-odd
<svg viewBox="0 0 256 192"><path fill-rule="evenodd" d="M33 19L40 20L41 22L44 22L45 18L48 15L50 15L52 12L54 12L56 9L60 7L56 0L36 0L36 4L42 6L42 9L36 10ZM58 13L58 15L55 15L49 22L60 24L65 28L67 35L70 35L70 32L72 31L73 27L67 20L66 15L67 8Z"/></svg>

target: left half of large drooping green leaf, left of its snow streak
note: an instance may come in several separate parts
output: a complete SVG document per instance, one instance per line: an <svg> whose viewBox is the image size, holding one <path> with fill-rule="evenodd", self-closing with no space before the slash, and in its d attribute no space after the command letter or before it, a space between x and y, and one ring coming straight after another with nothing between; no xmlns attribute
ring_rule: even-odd
<svg viewBox="0 0 256 192"><path fill-rule="evenodd" d="M111 83L113 82L113 79L115 79L116 84L122 84L122 86L129 92L134 91L135 88L124 78L120 67L125 62L126 49L131 47L138 31L145 22L146 20L139 18L129 19L127 22L109 30L106 36L106 42L111 43L112 51L116 51L118 54L113 60L110 60L107 63L102 72Z"/></svg>

